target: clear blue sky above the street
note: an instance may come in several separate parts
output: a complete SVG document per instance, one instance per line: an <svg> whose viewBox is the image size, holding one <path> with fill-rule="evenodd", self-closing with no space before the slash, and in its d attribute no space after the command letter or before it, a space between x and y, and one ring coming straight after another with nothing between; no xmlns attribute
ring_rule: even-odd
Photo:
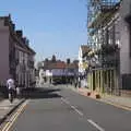
<svg viewBox="0 0 131 131"><path fill-rule="evenodd" d="M78 59L79 47L87 43L86 0L3 0L0 15L11 14L16 29L36 51L36 61L51 58Z"/></svg>

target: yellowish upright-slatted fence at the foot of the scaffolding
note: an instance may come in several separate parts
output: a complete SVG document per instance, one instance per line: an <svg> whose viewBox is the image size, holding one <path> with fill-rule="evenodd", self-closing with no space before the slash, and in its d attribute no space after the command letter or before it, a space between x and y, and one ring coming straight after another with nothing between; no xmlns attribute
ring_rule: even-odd
<svg viewBox="0 0 131 131"><path fill-rule="evenodd" d="M119 73L115 68L92 70L87 75L88 86L92 91L120 95Z"/></svg>

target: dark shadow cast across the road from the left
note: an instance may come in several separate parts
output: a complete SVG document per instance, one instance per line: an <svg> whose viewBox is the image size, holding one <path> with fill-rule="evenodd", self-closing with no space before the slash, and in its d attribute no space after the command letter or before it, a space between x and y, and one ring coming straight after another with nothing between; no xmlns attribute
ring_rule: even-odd
<svg viewBox="0 0 131 131"><path fill-rule="evenodd" d="M31 98L31 99L61 97L57 92L60 92L60 90L59 88L58 90L57 88L43 88L43 87L25 88L22 91L22 97Z"/></svg>

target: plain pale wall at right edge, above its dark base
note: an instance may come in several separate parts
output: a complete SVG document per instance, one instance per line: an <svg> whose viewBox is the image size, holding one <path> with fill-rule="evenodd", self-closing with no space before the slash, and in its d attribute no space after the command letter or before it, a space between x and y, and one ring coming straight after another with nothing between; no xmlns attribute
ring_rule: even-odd
<svg viewBox="0 0 131 131"><path fill-rule="evenodd" d="M130 0L123 0L120 8L120 73L131 73L131 59L130 59L130 34L129 25L124 21L126 16L130 13Z"/></svg>

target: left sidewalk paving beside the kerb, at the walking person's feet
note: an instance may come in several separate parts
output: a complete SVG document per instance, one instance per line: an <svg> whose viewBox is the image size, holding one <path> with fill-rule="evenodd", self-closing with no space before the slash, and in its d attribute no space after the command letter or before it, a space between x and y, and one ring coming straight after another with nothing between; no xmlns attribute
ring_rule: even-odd
<svg viewBox="0 0 131 131"><path fill-rule="evenodd" d="M14 99L13 104L10 104L9 99L3 99L0 102L0 124L10 116L24 99Z"/></svg>

